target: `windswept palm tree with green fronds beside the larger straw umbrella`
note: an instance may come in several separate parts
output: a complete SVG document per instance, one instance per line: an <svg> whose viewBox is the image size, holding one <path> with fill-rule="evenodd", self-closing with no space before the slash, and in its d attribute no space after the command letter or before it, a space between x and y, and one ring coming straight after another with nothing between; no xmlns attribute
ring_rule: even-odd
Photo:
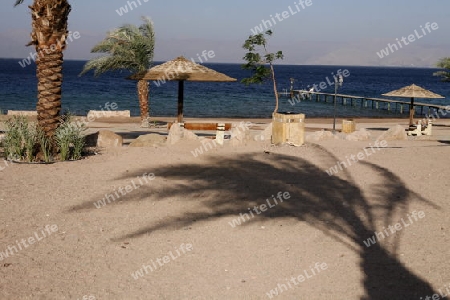
<svg viewBox="0 0 450 300"><path fill-rule="evenodd" d="M149 18L142 17L142 20L144 23L139 27L125 24L108 32L106 38L91 50L92 53L106 53L106 55L88 61L80 75L92 69L95 69L95 76L120 69L129 70L132 73L147 71L153 64L155 32L153 22ZM147 80L138 81L137 92L141 126L148 127L149 84Z"/></svg>

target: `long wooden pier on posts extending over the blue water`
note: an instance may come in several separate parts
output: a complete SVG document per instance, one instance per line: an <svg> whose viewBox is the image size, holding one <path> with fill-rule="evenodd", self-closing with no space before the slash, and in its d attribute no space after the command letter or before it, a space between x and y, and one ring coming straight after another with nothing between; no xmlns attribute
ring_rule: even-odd
<svg viewBox="0 0 450 300"><path fill-rule="evenodd" d="M286 93L280 93L280 95L286 95ZM291 104L294 103L292 101L295 101L294 104L296 104L299 103L300 101L305 100L333 104L335 94L309 92L306 90L292 90L287 96L291 98L290 100ZM389 112L394 113L399 112L400 114L403 114L409 113L409 107L411 103L406 101L389 100L382 98L367 98L362 96L336 94L336 104L344 106L370 108L376 110L387 110ZM441 109L445 110L446 106L435 105L430 103L414 102L414 108L417 114L423 116L423 115L431 115L433 113L432 110L437 111Z"/></svg>

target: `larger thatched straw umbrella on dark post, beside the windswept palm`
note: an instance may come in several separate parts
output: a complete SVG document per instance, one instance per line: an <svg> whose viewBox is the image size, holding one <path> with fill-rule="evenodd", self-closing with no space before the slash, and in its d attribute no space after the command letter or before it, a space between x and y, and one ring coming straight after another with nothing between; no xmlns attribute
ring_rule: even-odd
<svg viewBox="0 0 450 300"><path fill-rule="evenodd" d="M178 81L178 122L183 122L183 98L185 81L205 82L234 82L223 73L219 73L202 65L196 64L180 56L174 60L155 66L146 72L131 75L129 79L152 80L165 83L166 81Z"/></svg>

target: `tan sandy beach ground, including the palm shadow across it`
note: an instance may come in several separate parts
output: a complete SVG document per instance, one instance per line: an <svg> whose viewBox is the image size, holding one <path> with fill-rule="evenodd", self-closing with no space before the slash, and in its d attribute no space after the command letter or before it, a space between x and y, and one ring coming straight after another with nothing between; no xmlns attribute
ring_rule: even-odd
<svg viewBox="0 0 450 300"><path fill-rule="evenodd" d="M270 122L245 121L253 132ZM371 148L376 138L407 120L357 124L369 140L249 140L197 157L201 143L191 140L11 164L0 171L0 253L10 254L0 260L0 299L450 294L450 120L382 149ZM331 126L307 119L308 133ZM129 119L89 127L118 132L125 144L167 134ZM326 172L360 152L364 159Z"/></svg>

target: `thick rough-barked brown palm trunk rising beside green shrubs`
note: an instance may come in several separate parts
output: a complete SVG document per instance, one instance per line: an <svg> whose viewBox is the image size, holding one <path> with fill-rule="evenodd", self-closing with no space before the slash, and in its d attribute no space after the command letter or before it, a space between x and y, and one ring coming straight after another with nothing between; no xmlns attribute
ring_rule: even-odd
<svg viewBox="0 0 450 300"><path fill-rule="evenodd" d="M22 4L17 0L15 6ZM67 0L34 0L31 9L32 32L27 46L36 49L38 79L38 125L50 138L60 124L63 51L66 48L67 19L71 6Z"/></svg>

